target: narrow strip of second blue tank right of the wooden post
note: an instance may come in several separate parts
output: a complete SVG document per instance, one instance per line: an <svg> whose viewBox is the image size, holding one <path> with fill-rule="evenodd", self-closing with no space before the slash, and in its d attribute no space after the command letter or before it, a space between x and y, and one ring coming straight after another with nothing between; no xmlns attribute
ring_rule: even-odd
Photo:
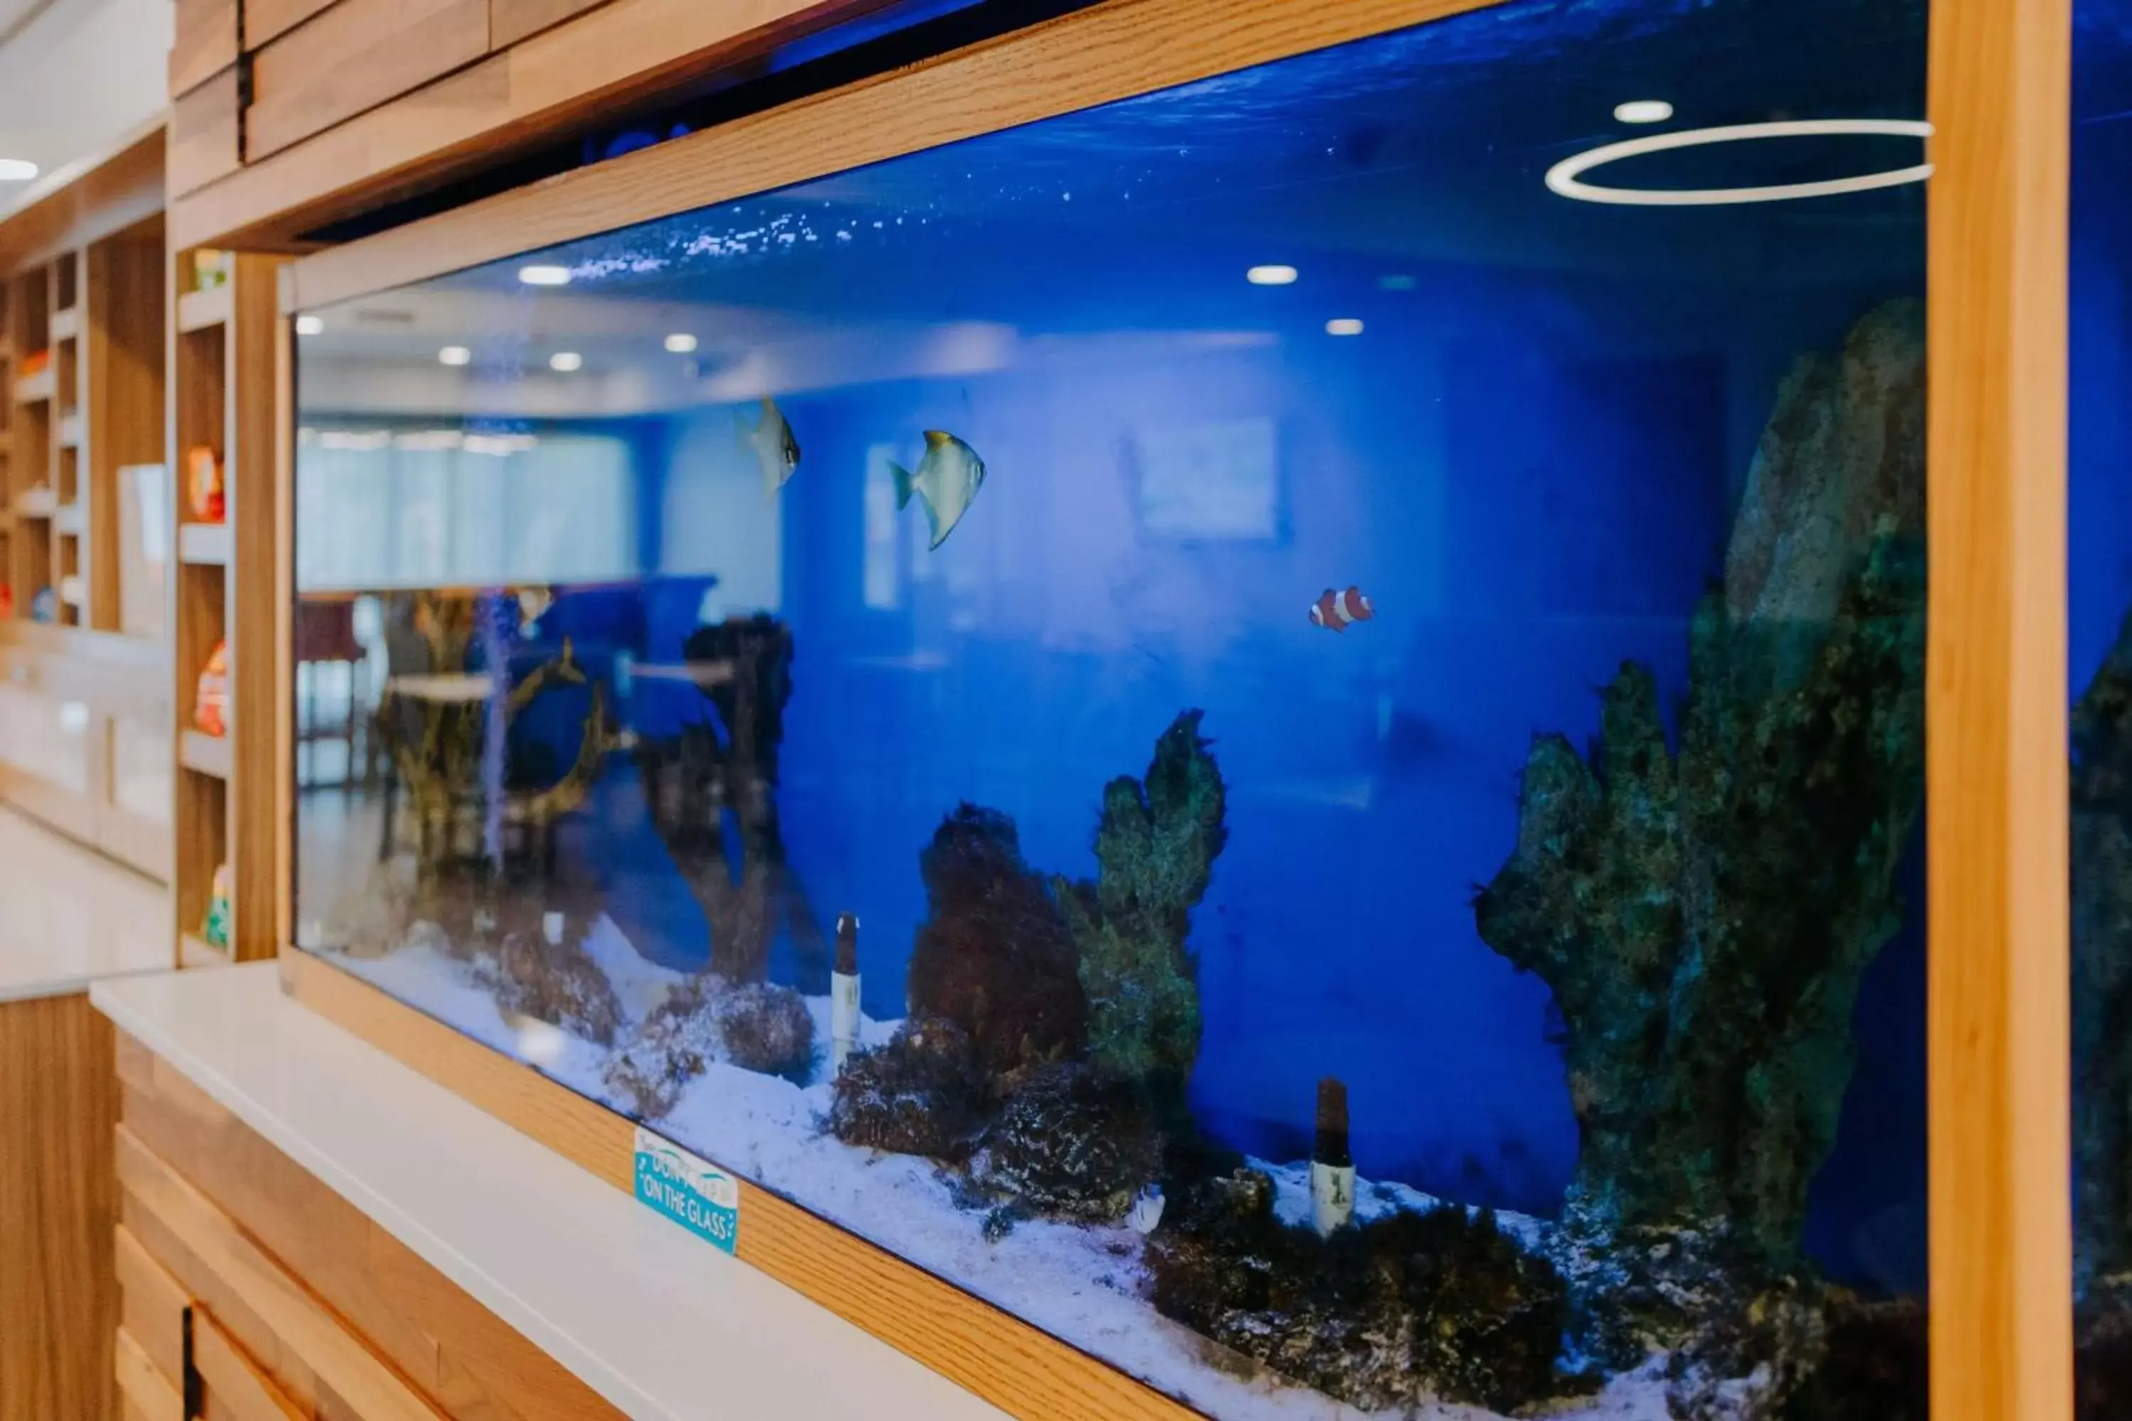
<svg viewBox="0 0 2132 1421"><path fill-rule="evenodd" d="M2072 49L2068 680L2079 1417L2132 1410L2132 2Z"/></svg>

